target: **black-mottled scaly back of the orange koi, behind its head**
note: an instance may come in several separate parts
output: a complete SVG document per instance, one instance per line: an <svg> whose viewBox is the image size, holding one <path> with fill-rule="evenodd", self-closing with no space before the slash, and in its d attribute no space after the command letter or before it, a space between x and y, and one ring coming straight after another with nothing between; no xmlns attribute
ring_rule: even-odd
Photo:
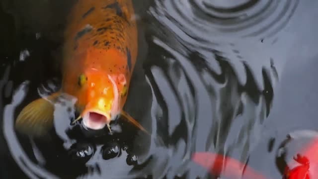
<svg viewBox="0 0 318 179"><path fill-rule="evenodd" d="M74 53L90 46L101 50L117 49L126 58L126 73L130 76L138 50L137 45L132 43L137 41L137 32L131 7L132 2L129 0L98 0L97 4L92 1L76 4L73 14L81 15L70 16L72 24L66 31L70 48Z"/></svg>

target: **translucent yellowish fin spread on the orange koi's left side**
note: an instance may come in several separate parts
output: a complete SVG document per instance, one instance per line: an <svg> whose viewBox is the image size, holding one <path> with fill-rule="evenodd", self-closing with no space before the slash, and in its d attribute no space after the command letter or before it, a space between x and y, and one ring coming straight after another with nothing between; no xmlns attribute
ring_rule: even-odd
<svg viewBox="0 0 318 179"><path fill-rule="evenodd" d="M47 98L39 98L26 105L19 113L15 128L18 132L40 137L45 135L53 127L54 101L59 92L53 93Z"/></svg>

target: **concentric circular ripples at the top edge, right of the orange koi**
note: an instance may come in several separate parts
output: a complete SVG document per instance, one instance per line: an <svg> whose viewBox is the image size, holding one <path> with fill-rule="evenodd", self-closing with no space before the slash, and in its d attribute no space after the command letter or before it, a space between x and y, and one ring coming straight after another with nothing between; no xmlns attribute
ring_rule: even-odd
<svg viewBox="0 0 318 179"><path fill-rule="evenodd" d="M190 36L270 37L293 15L299 0L156 0L151 12ZM165 16L162 18L162 16Z"/></svg>

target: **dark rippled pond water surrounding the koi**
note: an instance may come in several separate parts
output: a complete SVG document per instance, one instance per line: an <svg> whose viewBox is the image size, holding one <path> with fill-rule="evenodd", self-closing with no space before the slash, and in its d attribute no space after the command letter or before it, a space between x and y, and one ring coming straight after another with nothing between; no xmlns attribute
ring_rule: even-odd
<svg viewBox="0 0 318 179"><path fill-rule="evenodd" d="M211 151L280 179L318 128L317 0L134 0L140 52L125 109L109 135L70 125L57 104L43 139L16 133L30 101L59 88L56 68L73 1L0 0L0 179L213 178L192 163ZM243 170L243 169L242 169Z"/></svg>

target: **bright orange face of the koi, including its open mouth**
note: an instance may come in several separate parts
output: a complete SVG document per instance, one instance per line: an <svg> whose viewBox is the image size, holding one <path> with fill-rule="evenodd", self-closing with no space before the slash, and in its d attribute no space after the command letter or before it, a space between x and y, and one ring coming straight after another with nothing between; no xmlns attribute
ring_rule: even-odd
<svg viewBox="0 0 318 179"><path fill-rule="evenodd" d="M101 129L120 113L118 87L110 75L91 69L79 76L79 86L81 117L87 128Z"/></svg>

